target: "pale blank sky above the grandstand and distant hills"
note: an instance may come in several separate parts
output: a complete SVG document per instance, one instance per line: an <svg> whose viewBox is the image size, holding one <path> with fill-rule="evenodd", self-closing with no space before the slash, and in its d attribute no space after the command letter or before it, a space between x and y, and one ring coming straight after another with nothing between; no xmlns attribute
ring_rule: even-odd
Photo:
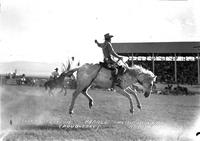
<svg viewBox="0 0 200 141"><path fill-rule="evenodd" d="M103 59L94 40L199 41L199 0L0 0L0 62Z"/></svg>

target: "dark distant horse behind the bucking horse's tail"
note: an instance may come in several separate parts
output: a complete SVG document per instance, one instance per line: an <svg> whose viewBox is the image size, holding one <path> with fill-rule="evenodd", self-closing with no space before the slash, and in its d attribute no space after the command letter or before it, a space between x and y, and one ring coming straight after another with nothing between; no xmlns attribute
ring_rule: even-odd
<svg viewBox="0 0 200 141"><path fill-rule="evenodd" d="M67 88L64 85L64 79L67 76L66 72L60 74L60 76L56 79L50 79L44 83L44 87L47 90L49 88L49 96L53 95L52 90L55 88L61 88L60 93L65 90L64 96L67 94Z"/></svg>

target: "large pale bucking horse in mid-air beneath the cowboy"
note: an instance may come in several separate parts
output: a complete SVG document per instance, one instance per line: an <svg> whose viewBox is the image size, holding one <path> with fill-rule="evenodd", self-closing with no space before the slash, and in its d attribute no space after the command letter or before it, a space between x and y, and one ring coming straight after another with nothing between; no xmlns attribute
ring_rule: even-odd
<svg viewBox="0 0 200 141"><path fill-rule="evenodd" d="M119 86L115 86L117 93L127 97L130 102L130 112L133 113L132 94L136 101L137 107L141 109L140 101L137 97L137 91L131 88L131 86L137 84L144 91L144 96L149 97L152 91L153 83L156 80L156 76L149 70L144 69L141 66L133 65L132 67L124 66L125 72L119 76L121 80ZM111 70L104 68L100 64L84 64L79 68L72 69L67 72L70 76L77 71L77 88L73 93L71 105L69 108L69 114L73 114L73 108L77 96L82 93L89 100L89 108L93 105L93 99L88 94L88 89L91 85L100 86L102 88L110 88L112 85Z"/></svg>

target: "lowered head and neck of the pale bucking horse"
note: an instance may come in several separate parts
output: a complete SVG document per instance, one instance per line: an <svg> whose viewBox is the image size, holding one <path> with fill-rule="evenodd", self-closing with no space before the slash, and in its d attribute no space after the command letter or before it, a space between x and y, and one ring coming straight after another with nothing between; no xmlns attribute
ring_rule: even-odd
<svg viewBox="0 0 200 141"><path fill-rule="evenodd" d="M136 79L135 81L144 91L144 96L149 97L157 76L155 76L151 71L137 65L134 65L132 71L134 72L133 77Z"/></svg>

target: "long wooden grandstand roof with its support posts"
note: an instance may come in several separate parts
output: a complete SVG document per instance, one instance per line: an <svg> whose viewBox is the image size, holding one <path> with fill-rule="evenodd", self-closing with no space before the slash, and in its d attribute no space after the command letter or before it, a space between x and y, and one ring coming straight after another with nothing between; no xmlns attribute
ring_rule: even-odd
<svg viewBox="0 0 200 141"><path fill-rule="evenodd" d="M177 83L177 61L197 62L197 82L200 84L200 42L135 42L113 43L115 51L132 61L141 59L152 62L155 72L156 61L173 61L174 82ZM142 60L142 59L141 59ZM182 70L184 71L184 70Z"/></svg>

